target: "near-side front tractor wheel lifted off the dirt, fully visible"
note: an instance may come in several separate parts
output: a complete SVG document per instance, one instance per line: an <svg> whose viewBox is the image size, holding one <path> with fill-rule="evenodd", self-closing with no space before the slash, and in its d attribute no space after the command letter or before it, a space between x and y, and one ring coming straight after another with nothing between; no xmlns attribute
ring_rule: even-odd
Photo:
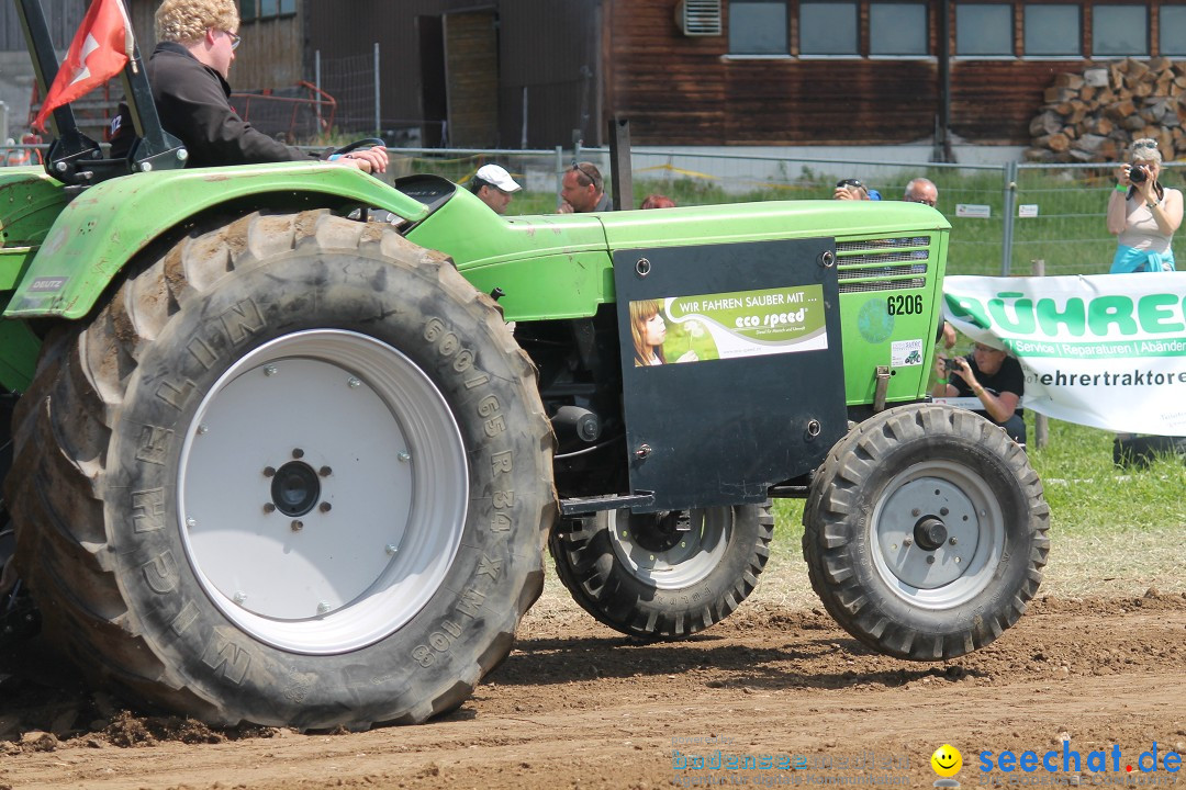
<svg viewBox="0 0 1186 790"><path fill-rule="evenodd" d="M961 409L908 405L857 425L803 513L811 586L887 655L954 659L1013 625L1038 592L1050 509L1025 450Z"/></svg>

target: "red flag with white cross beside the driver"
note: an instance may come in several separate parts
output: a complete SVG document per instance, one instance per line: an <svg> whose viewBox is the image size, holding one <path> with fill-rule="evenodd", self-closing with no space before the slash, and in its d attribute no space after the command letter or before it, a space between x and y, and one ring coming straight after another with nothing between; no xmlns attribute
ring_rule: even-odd
<svg viewBox="0 0 1186 790"><path fill-rule="evenodd" d="M45 94L33 127L44 131L45 120L56 108L85 96L120 73L132 58L134 46L132 24L123 4L120 0L94 0L75 33L58 76Z"/></svg>

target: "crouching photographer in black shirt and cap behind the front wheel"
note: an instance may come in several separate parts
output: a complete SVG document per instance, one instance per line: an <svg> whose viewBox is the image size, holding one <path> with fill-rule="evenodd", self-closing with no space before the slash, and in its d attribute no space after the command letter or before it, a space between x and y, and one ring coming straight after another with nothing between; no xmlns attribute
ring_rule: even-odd
<svg viewBox="0 0 1186 790"><path fill-rule="evenodd" d="M1018 444L1026 444L1026 422L1018 407L1026 391L1021 362L1001 348L976 343L967 357L948 359L935 355L936 398L970 398L983 409L977 415L1000 425Z"/></svg>

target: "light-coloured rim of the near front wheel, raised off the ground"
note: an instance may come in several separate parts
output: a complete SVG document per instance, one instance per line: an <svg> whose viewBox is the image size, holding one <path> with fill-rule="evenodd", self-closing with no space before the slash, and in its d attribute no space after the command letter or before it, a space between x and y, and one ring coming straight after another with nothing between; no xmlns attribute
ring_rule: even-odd
<svg viewBox="0 0 1186 790"><path fill-rule="evenodd" d="M942 545L920 545L920 519L943 524ZM961 463L927 461L881 489L869 520L878 574L913 606L942 610L971 600L991 583L1005 552L1005 518L983 477Z"/></svg>

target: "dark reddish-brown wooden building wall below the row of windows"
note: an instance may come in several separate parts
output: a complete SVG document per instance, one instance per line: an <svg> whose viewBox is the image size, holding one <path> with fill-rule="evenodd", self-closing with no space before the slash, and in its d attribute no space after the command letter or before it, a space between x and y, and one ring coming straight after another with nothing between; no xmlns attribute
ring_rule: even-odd
<svg viewBox="0 0 1186 790"><path fill-rule="evenodd" d="M723 34L715 37L684 36L675 21L675 0L605 4L605 107L630 117L636 143L885 144L930 139L935 131L940 111L940 0L929 4L931 54L918 59L731 58L728 0ZM1020 39L1025 4L1007 5L1016 11ZM861 4L860 14L863 30L868 2ZM1155 14L1153 19L1155 43ZM951 30L954 41L954 23ZM1082 31L1089 51L1088 12ZM1026 144L1029 121L1054 76L1093 63L952 58L951 131L974 143Z"/></svg>

